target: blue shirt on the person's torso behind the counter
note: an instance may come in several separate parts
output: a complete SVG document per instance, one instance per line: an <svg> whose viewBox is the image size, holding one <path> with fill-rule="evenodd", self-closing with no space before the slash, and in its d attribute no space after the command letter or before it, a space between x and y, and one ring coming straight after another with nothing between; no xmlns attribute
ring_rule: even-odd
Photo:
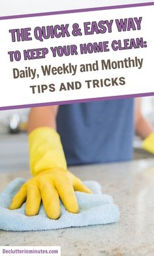
<svg viewBox="0 0 154 256"><path fill-rule="evenodd" d="M59 106L57 131L68 165L132 158L133 99Z"/></svg>

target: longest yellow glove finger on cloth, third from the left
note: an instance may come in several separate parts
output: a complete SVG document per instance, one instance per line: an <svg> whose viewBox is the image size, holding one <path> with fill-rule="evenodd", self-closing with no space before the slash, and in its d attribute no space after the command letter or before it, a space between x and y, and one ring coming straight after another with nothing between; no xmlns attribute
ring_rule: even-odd
<svg viewBox="0 0 154 256"><path fill-rule="evenodd" d="M46 215L50 219L58 219L61 214L61 207L57 190L49 181L43 181L40 182L40 193Z"/></svg>

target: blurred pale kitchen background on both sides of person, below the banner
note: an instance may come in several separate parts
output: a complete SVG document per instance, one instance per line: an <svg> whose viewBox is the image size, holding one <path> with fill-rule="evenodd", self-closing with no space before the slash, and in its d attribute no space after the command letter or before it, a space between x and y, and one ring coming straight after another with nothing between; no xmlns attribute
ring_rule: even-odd
<svg viewBox="0 0 154 256"><path fill-rule="evenodd" d="M27 117L29 108L0 112L0 171L29 169ZM142 114L154 127L154 96L142 98ZM134 137L134 159L151 158L142 149L142 140Z"/></svg>

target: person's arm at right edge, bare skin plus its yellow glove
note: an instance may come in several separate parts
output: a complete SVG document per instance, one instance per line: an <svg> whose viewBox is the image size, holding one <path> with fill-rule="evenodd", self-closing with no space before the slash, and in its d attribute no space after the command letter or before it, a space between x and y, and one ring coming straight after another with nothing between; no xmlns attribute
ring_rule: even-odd
<svg viewBox="0 0 154 256"><path fill-rule="evenodd" d="M143 140L142 147L151 154L154 154L154 130L141 112L141 100L136 99L135 106L135 129L136 135Z"/></svg>

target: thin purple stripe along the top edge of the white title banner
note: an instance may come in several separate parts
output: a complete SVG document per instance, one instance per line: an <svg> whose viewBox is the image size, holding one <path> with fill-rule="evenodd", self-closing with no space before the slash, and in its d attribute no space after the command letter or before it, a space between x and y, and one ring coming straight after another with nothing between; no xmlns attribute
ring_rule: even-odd
<svg viewBox="0 0 154 256"><path fill-rule="evenodd" d="M68 11L40 12L40 13L33 13L33 14L2 16L2 17L0 17L0 20L9 20L9 19L13 19L13 18L29 18L29 17L38 17L38 16L48 16L48 15L57 15L57 14L68 14L68 13L75 13L75 12L90 12L90 11L131 8L131 7L144 7L144 6L151 6L151 5L154 5L154 2L135 3L135 4L129 4L129 5L114 5L114 6L108 6L108 7L95 7L95 8L76 9L76 10L68 10Z"/></svg>

